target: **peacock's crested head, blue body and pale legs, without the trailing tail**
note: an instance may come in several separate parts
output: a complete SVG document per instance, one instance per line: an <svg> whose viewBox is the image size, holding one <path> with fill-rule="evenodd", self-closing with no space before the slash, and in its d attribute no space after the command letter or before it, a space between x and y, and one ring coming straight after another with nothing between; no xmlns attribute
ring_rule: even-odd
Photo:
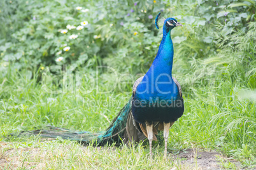
<svg viewBox="0 0 256 170"><path fill-rule="evenodd" d="M159 15L155 19L157 29ZM174 18L164 20L163 37L152 66L138 84L132 98L132 115L134 120L148 138L150 143L150 157L152 157L152 140L156 140L157 129L164 131L167 155L167 139L169 128L184 112L183 98L178 81L172 77L173 69L173 41L171 30L182 26Z"/></svg>

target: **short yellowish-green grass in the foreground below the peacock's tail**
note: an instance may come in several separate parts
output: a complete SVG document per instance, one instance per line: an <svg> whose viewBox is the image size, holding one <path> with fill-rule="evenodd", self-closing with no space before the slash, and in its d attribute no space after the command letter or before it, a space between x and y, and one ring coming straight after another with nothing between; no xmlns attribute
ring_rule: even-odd
<svg viewBox="0 0 256 170"><path fill-rule="evenodd" d="M95 148L81 147L67 140L61 143L27 139L4 145L0 156L6 155L10 162L3 169L195 169L181 164L180 159L163 160L159 152L151 161L142 145Z"/></svg>

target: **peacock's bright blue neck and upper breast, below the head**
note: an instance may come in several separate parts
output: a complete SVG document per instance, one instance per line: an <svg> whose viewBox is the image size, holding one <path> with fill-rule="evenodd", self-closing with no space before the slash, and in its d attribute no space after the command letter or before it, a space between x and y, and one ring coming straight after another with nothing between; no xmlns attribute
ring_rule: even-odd
<svg viewBox="0 0 256 170"><path fill-rule="evenodd" d="M138 97L160 97L162 99L175 97L178 94L178 89L171 78L172 69L173 41L171 40L171 30L164 28L157 56L148 72L146 72L143 82L137 88L138 92L144 91L145 93L141 93Z"/></svg>

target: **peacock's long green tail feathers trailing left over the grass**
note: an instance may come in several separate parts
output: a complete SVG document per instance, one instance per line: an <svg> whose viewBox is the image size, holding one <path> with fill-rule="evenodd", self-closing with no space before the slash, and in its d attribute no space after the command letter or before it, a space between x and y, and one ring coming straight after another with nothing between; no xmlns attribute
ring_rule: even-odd
<svg viewBox="0 0 256 170"><path fill-rule="evenodd" d="M106 131L101 133L90 133L88 131L72 131L69 129L58 128L55 126L46 126L46 129L35 131L21 131L19 134L11 136L32 136L38 135L43 138L63 138L67 140L82 141L84 144L94 142L94 145L120 144L124 139L127 117L131 112L131 100L120 110L117 117L111 122ZM122 139L122 140L121 140Z"/></svg>

